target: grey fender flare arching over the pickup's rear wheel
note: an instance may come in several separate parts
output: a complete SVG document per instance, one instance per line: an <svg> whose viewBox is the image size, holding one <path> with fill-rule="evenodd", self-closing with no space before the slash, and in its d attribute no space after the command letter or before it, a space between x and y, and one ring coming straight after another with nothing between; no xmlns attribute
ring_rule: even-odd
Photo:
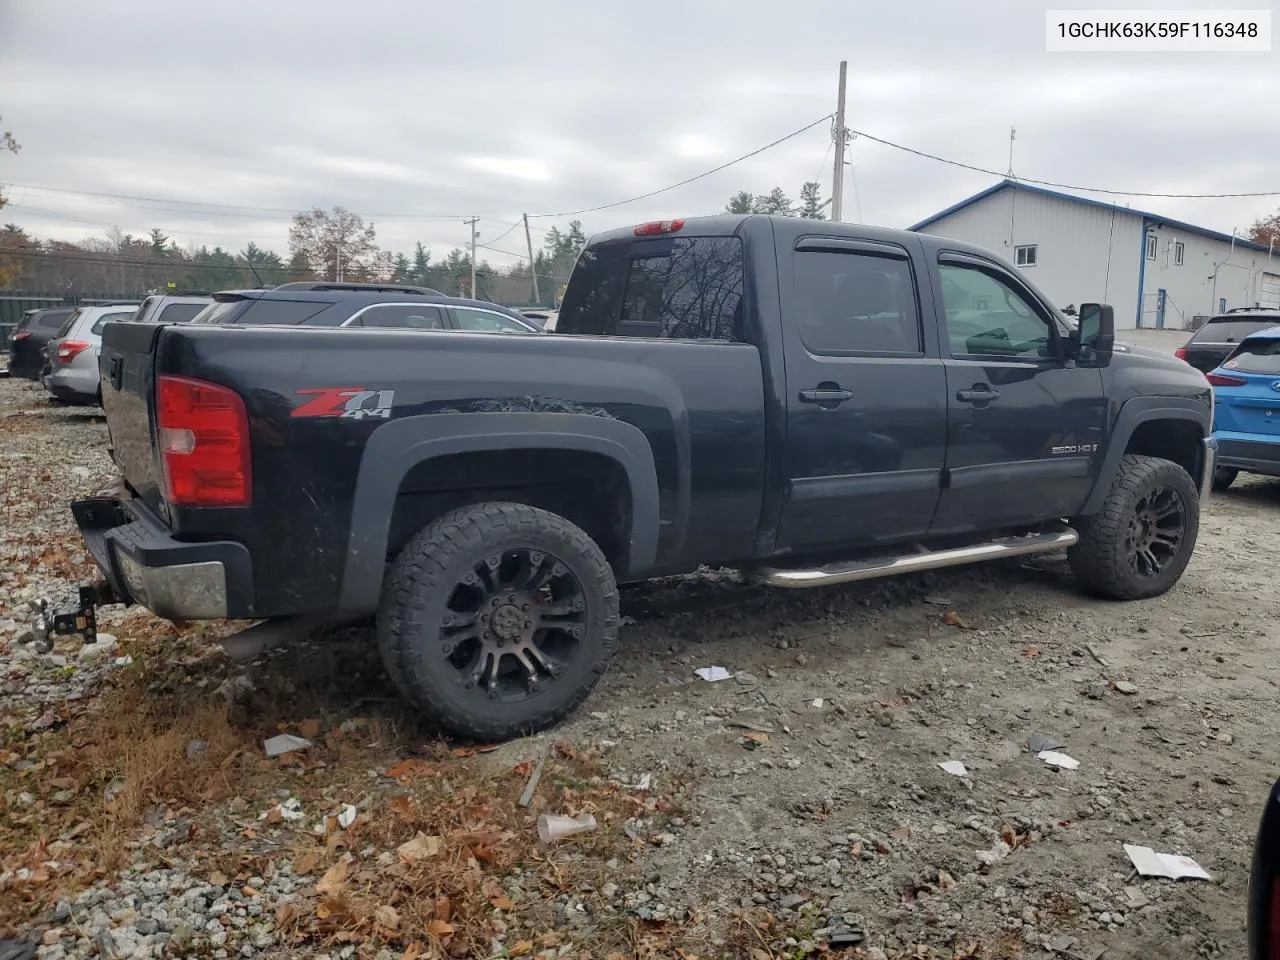
<svg viewBox="0 0 1280 960"><path fill-rule="evenodd" d="M401 417L369 438L356 476L338 607L378 609L392 509L401 481L429 460L456 453L557 449L604 456L631 486L631 530L621 573L652 568L658 553L658 471L649 440L622 420L589 413L428 413Z"/></svg>

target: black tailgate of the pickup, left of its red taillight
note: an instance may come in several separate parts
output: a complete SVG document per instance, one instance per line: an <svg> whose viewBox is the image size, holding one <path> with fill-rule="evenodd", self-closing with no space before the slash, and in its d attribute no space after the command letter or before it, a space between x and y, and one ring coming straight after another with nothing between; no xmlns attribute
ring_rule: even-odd
<svg viewBox="0 0 1280 960"><path fill-rule="evenodd" d="M108 323L100 355L102 410L111 438L111 458L125 483L159 511L163 481L152 428L155 348L160 324Z"/></svg>

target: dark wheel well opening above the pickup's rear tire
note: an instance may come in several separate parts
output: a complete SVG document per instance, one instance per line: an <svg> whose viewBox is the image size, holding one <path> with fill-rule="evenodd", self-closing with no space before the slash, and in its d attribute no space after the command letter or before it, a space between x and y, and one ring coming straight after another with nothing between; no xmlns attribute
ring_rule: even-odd
<svg viewBox="0 0 1280 960"><path fill-rule="evenodd" d="M631 485L617 461L556 449L483 451L424 461L396 494L388 557L436 517L468 503L509 500L558 513L595 540L620 573L631 541Z"/></svg>

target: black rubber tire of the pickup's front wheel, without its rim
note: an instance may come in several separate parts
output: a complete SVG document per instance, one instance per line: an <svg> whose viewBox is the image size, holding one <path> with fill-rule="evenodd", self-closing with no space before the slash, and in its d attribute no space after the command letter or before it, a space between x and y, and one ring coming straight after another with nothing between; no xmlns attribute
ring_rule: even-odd
<svg viewBox="0 0 1280 960"><path fill-rule="evenodd" d="M1181 539L1169 562L1144 576L1130 562L1129 525L1144 497L1158 488L1172 490L1183 503ZM1079 543L1066 557L1076 581L1091 593L1114 600L1142 600L1166 593L1187 570L1199 532L1199 494L1190 476L1172 461L1126 453L1111 480L1102 509L1073 522Z"/></svg>

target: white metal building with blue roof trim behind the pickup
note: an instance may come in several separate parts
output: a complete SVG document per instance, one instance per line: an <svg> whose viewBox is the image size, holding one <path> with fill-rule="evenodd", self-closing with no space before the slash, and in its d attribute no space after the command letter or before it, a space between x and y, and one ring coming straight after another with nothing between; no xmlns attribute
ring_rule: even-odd
<svg viewBox="0 0 1280 960"><path fill-rule="evenodd" d="M1110 303L1116 326L1280 307L1280 250L1160 214L1002 180L911 230L1001 253L1064 307Z"/></svg>

